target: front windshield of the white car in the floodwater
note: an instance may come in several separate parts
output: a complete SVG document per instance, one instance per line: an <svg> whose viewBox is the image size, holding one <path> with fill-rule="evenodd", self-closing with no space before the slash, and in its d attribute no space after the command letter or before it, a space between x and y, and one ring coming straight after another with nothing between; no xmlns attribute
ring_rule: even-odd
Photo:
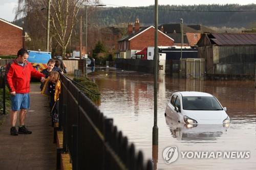
<svg viewBox="0 0 256 170"><path fill-rule="evenodd" d="M223 110L214 97L189 96L182 99L184 110Z"/></svg>

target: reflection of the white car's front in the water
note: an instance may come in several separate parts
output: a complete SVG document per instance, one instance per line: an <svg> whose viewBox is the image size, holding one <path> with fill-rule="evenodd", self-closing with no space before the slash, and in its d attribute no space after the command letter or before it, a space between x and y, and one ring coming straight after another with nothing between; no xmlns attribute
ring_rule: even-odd
<svg viewBox="0 0 256 170"><path fill-rule="evenodd" d="M165 120L174 138L189 142L213 142L229 128L229 124L226 126L181 124L168 116Z"/></svg>

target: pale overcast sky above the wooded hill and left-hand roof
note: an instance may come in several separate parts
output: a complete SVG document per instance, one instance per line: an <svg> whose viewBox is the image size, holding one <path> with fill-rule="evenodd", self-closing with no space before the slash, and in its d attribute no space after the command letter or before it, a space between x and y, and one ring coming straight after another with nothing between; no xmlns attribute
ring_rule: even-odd
<svg viewBox="0 0 256 170"><path fill-rule="evenodd" d="M3 18L7 21L13 21L14 19L14 8L17 7L18 0L0 0L0 18ZM129 0L129 1L120 1L120 0L101 0L102 4L110 5L119 5L119 6L129 6L129 7L137 7L137 6L148 6L155 4L154 0ZM215 4L252 4L256 3L255 0L215 0ZM179 0L179 1L170 1L170 0L158 0L159 5L194 5L194 4L209 4L209 0ZM212 3L210 3L212 4ZM115 6L116 7L116 6Z"/></svg>

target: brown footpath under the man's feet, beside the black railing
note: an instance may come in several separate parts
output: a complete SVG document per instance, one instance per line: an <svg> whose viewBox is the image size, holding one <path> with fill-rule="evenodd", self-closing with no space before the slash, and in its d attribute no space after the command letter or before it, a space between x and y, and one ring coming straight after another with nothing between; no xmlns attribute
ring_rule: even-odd
<svg viewBox="0 0 256 170"><path fill-rule="evenodd" d="M30 87L30 110L26 126L30 135L10 135L10 118L0 126L0 169L56 169L56 144L53 143L50 108L39 84ZM19 126L17 118L16 126Z"/></svg>

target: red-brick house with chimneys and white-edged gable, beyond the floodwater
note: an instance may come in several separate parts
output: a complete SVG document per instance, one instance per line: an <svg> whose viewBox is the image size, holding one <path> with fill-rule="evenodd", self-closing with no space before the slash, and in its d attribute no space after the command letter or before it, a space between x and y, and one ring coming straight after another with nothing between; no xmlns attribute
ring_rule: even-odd
<svg viewBox="0 0 256 170"><path fill-rule="evenodd" d="M137 20L136 20L137 21ZM132 24L129 23L127 33L128 35L118 41L119 52L126 50L142 50L147 46L154 46L155 44L155 27L141 28L135 22L135 29L133 31ZM170 38L160 30L158 30L158 46L172 46L174 39Z"/></svg>

